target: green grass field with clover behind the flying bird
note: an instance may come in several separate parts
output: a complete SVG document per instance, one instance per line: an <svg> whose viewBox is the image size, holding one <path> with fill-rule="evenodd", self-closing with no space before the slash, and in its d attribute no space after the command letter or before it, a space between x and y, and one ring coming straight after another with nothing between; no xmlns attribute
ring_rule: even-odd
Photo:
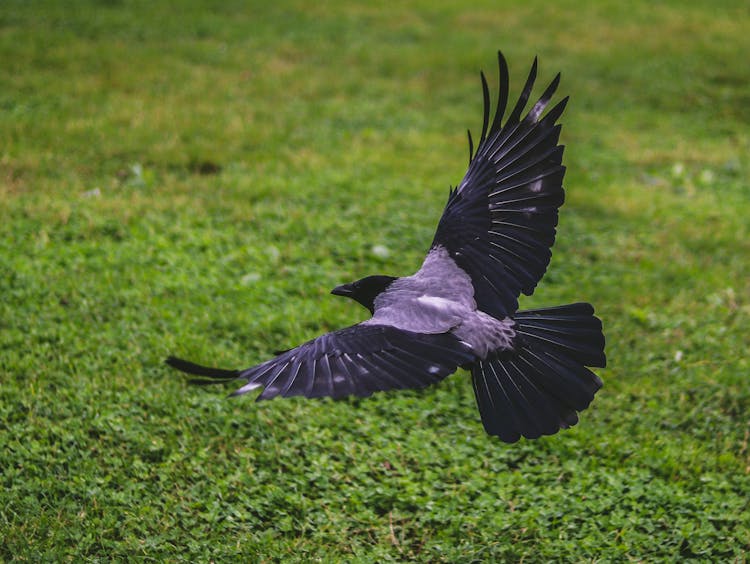
<svg viewBox="0 0 750 564"><path fill-rule="evenodd" d="M747 561L750 9L471 4L0 3L1 560ZM497 49L571 95L522 305L604 321L578 426L493 440L465 372L256 404L163 365L412 273Z"/></svg>

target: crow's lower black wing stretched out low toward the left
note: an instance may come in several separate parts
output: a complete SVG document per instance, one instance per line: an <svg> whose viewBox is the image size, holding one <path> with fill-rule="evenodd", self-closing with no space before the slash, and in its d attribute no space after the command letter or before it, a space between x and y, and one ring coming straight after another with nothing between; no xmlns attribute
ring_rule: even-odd
<svg viewBox="0 0 750 564"><path fill-rule="evenodd" d="M262 387L261 400L369 396L384 390L423 388L474 358L468 345L448 333L427 335L360 324L322 335L246 370L208 368L174 357L167 364L219 381L247 380L234 395Z"/></svg>

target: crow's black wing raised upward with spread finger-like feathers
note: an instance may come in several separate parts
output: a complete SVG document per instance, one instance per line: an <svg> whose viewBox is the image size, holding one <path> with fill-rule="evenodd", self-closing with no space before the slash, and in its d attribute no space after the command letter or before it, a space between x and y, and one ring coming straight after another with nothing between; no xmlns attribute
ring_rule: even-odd
<svg viewBox="0 0 750 564"><path fill-rule="evenodd" d="M498 53L500 86L492 123L487 80L482 77L484 123L476 154L469 133L469 170L452 190L432 248L445 247L471 277L479 309L503 318L518 309L521 292L533 293L555 241L564 201L560 117L568 101L542 113L557 89L558 74L526 117L521 113L536 79L537 62L508 119L508 66Z"/></svg>

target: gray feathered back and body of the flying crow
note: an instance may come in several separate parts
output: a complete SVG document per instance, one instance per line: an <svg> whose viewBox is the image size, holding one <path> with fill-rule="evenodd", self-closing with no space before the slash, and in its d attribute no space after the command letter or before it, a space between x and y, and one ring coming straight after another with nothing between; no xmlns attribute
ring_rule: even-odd
<svg viewBox="0 0 750 564"><path fill-rule="evenodd" d="M515 323L477 309L469 275L443 247L435 247L411 276L396 279L375 298L365 324L390 325L414 333L453 333L479 358L513 347Z"/></svg>

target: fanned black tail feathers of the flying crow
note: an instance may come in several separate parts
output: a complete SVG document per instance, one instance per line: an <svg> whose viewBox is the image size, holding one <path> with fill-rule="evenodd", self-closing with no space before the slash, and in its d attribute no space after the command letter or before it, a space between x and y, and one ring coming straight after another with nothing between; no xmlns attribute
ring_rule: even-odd
<svg viewBox="0 0 750 564"><path fill-rule="evenodd" d="M484 428L509 443L578 422L602 387L586 366L604 367L602 323L590 304L519 311L516 347L472 366Z"/></svg>

